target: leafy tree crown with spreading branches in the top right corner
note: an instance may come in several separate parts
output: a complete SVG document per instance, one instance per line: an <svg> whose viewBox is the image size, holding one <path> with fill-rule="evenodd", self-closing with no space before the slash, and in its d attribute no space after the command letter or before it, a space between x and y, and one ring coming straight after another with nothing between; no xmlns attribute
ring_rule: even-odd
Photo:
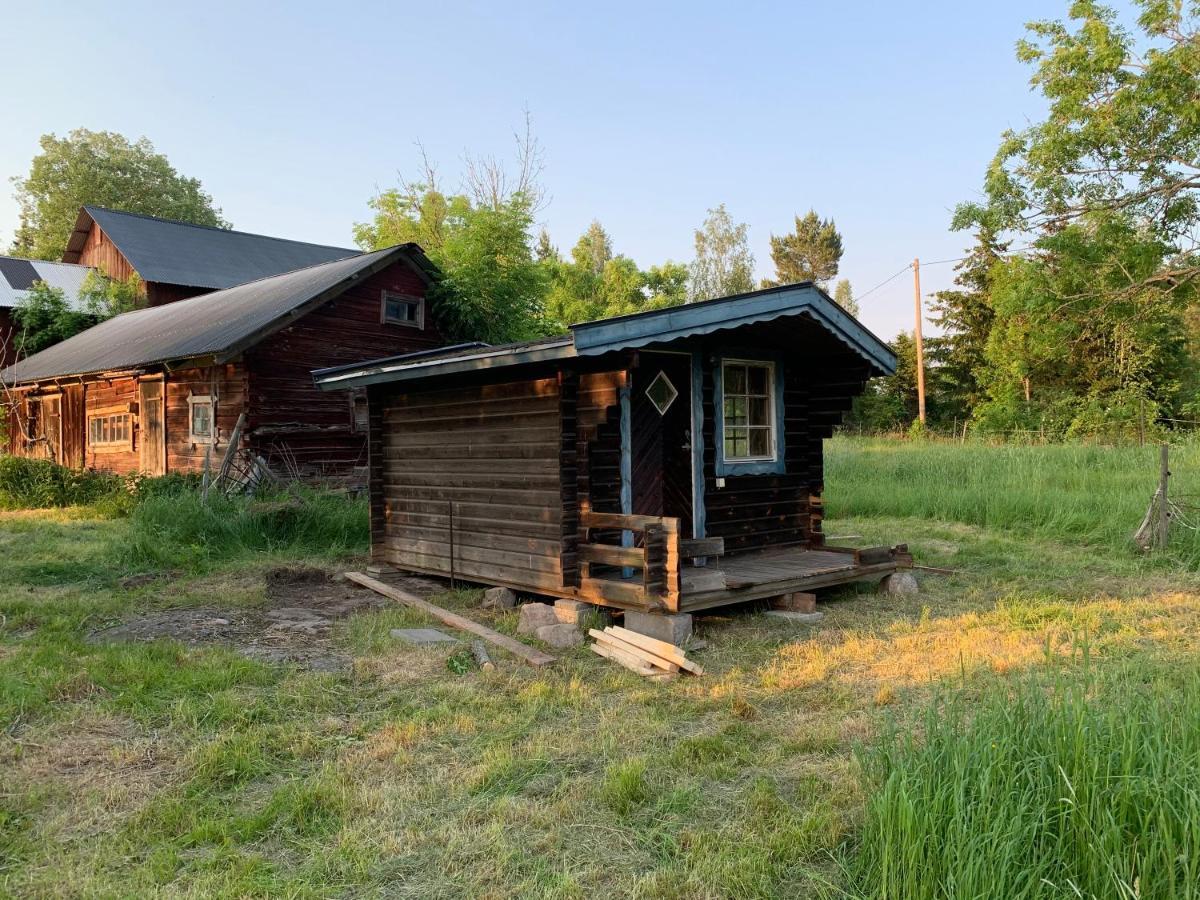
<svg viewBox="0 0 1200 900"><path fill-rule="evenodd" d="M1151 229L1171 252L1164 265L1108 290L1200 276L1200 8L1135 0L1140 34L1094 0L1070 4L1069 22L1034 22L1018 58L1049 101L1046 119L1004 132L984 182L986 202L959 208L955 226L1054 233L1092 214Z"/></svg>

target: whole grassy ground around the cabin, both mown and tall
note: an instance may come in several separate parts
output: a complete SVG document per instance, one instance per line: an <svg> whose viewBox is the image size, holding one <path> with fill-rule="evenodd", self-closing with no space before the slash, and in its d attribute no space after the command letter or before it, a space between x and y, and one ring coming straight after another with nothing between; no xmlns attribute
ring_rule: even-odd
<svg viewBox="0 0 1200 900"><path fill-rule="evenodd" d="M1130 548L1157 464L830 442L827 532L956 574L703 618L670 684L587 650L458 674L396 608L337 624L346 672L91 641L361 563L361 504L0 512L0 895L1195 895L1200 542Z"/></svg>

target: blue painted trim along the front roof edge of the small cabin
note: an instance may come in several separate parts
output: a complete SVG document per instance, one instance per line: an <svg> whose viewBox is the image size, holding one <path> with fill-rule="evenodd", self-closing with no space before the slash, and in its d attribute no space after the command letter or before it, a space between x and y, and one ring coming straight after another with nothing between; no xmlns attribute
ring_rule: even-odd
<svg viewBox="0 0 1200 900"><path fill-rule="evenodd" d="M810 316L824 325L834 337L862 355L881 374L895 372L896 358L892 348L812 284L774 288L653 313L601 319L572 325L571 331L578 354L594 356L797 314Z"/></svg>

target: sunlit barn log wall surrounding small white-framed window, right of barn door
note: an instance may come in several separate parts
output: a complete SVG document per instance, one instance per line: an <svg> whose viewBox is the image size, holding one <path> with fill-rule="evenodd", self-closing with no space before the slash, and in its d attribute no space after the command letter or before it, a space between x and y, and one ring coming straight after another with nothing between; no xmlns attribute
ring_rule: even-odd
<svg viewBox="0 0 1200 900"><path fill-rule="evenodd" d="M246 408L246 368L240 362L226 366L202 366L181 368L167 376L166 385L167 424L167 472L203 472L204 460L216 469L229 446L229 436L238 424L238 416ZM215 398L217 439L209 444L196 444L191 432L191 396Z"/></svg>

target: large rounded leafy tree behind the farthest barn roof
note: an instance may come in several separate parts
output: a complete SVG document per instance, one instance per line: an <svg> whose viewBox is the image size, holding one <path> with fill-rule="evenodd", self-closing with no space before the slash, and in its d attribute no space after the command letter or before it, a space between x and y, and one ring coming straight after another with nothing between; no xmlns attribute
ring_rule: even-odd
<svg viewBox="0 0 1200 900"><path fill-rule="evenodd" d="M199 180L175 172L145 138L76 128L43 134L25 178L14 178L20 223L12 252L61 259L85 204L228 228Z"/></svg>

